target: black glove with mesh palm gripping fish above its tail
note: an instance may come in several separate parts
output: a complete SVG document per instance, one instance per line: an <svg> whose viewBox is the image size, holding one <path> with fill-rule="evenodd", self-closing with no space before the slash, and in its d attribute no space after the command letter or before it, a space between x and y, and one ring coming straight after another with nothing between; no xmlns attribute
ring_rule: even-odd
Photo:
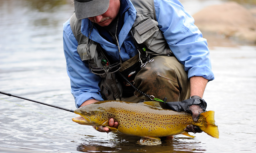
<svg viewBox="0 0 256 153"><path fill-rule="evenodd" d="M193 121L197 122L199 115L206 109L206 102L199 96L192 96L184 101L166 102L166 105L177 112L187 112L192 114Z"/></svg>

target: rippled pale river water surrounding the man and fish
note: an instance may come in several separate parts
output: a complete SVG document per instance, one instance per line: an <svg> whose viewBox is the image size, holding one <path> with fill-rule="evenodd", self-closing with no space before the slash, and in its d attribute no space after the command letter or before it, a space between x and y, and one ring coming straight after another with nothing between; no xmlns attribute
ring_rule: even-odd
<svg viewBox="0 0 256 153"><path fill-rule="evenodd" d="M191 2L182 1L192 14L221 3ZM68 0L0 3L0 91L76 109L62 50L62 24L73 5ZM143 146L137 144L139 137L100 133L72 122L74 113L0 95L0 152L255 152L256 47L234 44L210 46L215 80L204 99L207 110L215 111L219 139L197 133Z"/></svg>

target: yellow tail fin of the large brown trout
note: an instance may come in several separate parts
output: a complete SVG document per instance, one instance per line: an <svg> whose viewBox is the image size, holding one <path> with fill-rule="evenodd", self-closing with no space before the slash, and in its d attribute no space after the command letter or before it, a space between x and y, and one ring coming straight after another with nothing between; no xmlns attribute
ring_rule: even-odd
<svg viewBox="0 0 256 153"><path fill-rule="evenodd" d="M219 138L219 129L218 126L215 125L214 121L214 111L207 111L201 113L201 115L205 118L205 122L203 122L203 125L199 126L199 128L208 135Z"/></svg>

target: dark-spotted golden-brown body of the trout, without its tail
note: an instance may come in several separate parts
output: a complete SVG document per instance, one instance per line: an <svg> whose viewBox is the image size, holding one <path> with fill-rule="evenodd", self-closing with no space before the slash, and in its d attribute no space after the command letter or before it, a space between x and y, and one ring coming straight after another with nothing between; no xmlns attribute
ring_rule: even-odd
<svg viewBox="0 0 256 153"><path fill-rule="evenodd" d="M155 109L142 103L104 101L93 103L92 108L88 109L97 110L92 113L94 122L105 122L113 118L118 122L119 132L135 136L176 135L193 122L192 116L187 113Z"/></svg>

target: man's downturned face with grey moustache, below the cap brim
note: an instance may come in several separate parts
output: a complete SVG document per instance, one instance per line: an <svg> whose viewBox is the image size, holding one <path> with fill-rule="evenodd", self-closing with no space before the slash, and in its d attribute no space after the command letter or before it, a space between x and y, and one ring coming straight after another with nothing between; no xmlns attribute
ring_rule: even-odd
<svg viewBox="0 0 256 153"><path fill-rule="evenodd" d="M119 0L110 0L108 10L98 16L88 17L88 19L100 26L107 26L110 24L119 13L120 1Z"/></svg>

